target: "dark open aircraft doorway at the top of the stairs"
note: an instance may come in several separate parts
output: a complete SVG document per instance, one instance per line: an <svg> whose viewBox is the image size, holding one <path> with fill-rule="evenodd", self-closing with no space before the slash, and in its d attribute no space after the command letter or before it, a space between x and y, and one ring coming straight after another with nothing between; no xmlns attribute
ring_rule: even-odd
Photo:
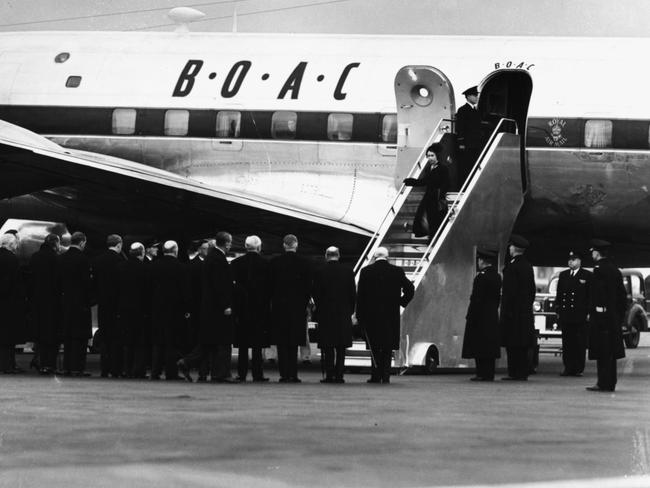
<svg viewBox="0 0 650 488"><path fill-rule="evenodd" d="M494 71L486 76L479 85L477 106L485 141L502 118L516 121L521 141L521 181L524 191L528 185L526 121L532 92L533 80L528 71L519 69ZM502 128L504 131L514 132L512 125L514 124L504 124Z"/></svg>

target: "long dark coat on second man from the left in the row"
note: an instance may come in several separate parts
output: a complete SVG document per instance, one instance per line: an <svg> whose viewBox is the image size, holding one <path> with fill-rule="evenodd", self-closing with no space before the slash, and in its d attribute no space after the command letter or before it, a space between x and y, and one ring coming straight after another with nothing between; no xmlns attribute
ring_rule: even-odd
<svg viewBox="0 0 650 488"><path fill-rule="evenodd" d="M29 261L32 293L31 313L35 340L42 344L61 342L61 282L59 257L43 245Z"/></svg>

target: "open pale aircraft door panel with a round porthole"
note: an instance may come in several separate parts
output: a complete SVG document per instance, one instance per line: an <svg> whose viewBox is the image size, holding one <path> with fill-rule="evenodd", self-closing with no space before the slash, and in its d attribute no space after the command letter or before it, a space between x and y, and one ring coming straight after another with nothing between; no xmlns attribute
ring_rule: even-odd
<svg viewBox="0 0 650 488"><path fill-rule="evenodd" d="M397 164L395 187L399 188L428 143L438 131L451 132L456 112L454 91L445 74L432 66L404 66L395 76L397 101Z"/></svg>

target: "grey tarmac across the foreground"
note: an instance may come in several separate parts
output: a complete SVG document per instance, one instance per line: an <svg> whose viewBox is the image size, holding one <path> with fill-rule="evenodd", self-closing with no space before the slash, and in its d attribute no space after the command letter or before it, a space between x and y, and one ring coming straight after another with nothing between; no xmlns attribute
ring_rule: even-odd
<svg viewBox="0 0 650 488"><path fill-rule="evenodd" d="M0 376L0 487L650 486L650 333L627 353L615 393L548 355L526 383Z"/></svg>

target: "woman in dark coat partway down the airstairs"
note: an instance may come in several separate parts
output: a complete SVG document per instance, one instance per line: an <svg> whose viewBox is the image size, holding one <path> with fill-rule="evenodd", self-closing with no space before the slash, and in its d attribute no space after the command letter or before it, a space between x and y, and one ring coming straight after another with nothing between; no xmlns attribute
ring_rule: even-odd
<svg viewBox="0 0 650 488"><path fill-rule="evenodd" d="M406 186L424 186L426 190L413 219L413 233L417 237L433 237L447 214L446 195L449 191L449 169L439 157L442 146L434 143L426 152L427 167L420 178L406 178Z"/></svg>

